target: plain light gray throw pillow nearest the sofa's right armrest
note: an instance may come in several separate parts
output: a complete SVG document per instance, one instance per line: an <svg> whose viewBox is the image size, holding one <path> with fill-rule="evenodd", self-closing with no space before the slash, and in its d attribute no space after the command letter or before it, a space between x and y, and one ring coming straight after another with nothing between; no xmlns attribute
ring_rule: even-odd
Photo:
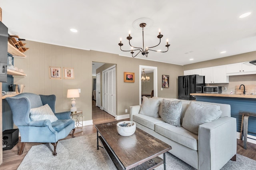
<svg viewBox="0 0 256 170"><path fill-rule="evenodd" d="M199 125L215 121L222 114L221 110L204 107L200 103L191 102L185 112L182 127L186 130L198 134Z"/></svg>

